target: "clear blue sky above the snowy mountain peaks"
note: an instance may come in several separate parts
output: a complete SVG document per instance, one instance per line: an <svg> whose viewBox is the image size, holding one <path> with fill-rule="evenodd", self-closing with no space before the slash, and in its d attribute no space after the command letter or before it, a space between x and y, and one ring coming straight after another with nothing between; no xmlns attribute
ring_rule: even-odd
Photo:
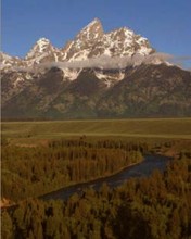
<svg viewBox="0 0 191 239"><path fill-rule="evenodd" d="M191 0L1 0L1 50L23 58L41 37L61 48L94 17L191 67Z"/></svg>

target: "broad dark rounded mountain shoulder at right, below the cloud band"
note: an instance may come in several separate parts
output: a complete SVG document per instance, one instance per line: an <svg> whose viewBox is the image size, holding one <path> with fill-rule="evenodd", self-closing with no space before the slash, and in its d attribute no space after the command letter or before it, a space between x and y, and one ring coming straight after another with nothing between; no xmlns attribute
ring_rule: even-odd
<svg viewBox="0 0 191 239"><path fill-rule="evenodd" d="M127 72L98 105L101 116L191 116L191 73L176 66L140 65Z"/></svg>

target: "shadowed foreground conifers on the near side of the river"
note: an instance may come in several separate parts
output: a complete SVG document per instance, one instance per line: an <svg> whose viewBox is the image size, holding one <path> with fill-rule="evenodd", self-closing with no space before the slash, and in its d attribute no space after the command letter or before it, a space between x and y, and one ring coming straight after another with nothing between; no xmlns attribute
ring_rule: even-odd
<svg viewBox="0 0 191 239"><path fill-rule="evenodd" d="M189 152L188 152L189 153ZM191 238L191 158L181 154L164 174L110 189L87 189L68 201L28 199L2 212L2 238Z"/></svg>

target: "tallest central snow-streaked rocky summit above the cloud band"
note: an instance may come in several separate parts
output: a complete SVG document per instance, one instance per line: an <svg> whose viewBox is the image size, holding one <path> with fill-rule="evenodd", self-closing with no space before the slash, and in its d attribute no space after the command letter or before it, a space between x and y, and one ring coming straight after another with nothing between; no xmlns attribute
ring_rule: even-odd
<svg viewBox="0 0 191 239"><path fill-rule="evenodd" d="M81 61L101 55L148 55L153 51L148 39L136 35L131 29L120 27L104 33L101 21L94 18L63 49L61 61Z"/></svg>

